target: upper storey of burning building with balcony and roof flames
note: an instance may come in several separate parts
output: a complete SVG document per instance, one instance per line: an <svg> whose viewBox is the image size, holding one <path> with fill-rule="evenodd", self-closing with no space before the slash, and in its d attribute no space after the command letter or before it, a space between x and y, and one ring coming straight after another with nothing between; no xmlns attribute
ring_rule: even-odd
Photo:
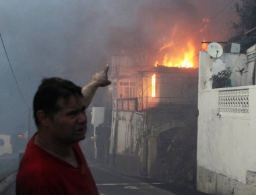
<svg viewBox="0 0 256 195"><path fill-rule="evenodd" d="M177 58L166 54L161 65L156 61L151 66L146 65L148 51L115 54L111 73L113 109L145 110L162 103L195 104L197 68L193 54L193 49Z"/></svg>

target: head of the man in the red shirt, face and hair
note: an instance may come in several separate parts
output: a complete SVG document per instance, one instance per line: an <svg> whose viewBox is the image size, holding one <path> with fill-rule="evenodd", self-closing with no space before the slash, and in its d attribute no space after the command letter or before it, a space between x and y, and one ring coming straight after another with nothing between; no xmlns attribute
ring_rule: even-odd
<svg viewBox="0 0 256 195"><path fill-rule="evenodd" d="M86 104L81 87L57 77L43 79L33 106L36 126L47 139L70 145L85 138Z"/></svg>

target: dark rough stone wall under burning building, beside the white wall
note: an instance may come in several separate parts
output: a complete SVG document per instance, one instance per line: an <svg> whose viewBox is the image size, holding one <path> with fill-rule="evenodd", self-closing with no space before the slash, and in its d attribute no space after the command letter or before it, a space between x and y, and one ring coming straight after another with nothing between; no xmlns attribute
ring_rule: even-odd
<svg viewBox="0 0 256 195"><path fill-rule="evenodd" d="M184 108L183 108L184 109ZM197 166L197 109L176 112L168 130L158 136L156 167L152 178L195 189Z"/></svg>

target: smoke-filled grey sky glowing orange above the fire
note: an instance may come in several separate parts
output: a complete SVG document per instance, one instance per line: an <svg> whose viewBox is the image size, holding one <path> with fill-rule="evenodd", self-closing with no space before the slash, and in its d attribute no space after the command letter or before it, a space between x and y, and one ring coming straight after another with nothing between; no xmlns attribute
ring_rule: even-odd
<svg viewBox="0 0 256 195"><path fill-rule="evenodd" d="M238 18L235 2L1 0L0 33L11 67L0 44L0 134L23 133L29 123L35 128L28 110L44 77L83 86L110 62L113 50L158 50L164 42L181 45L188 38L198 45L202 38L227 40Z"/></svg>

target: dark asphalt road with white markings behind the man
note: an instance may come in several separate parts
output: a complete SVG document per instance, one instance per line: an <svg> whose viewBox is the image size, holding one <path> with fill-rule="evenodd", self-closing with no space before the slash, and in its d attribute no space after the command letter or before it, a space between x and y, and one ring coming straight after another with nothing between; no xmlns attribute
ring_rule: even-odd
<svg viewBox="0 0 256 195"><path fill-rule="evenodd" d="M164 184L143 178L123 176L102 167L98 163L88 162L94 180L101 195L195 195L202 194L183 188L177 188L170 184ZM15 195L15 183L13 183L1 195Z"/></svg>

